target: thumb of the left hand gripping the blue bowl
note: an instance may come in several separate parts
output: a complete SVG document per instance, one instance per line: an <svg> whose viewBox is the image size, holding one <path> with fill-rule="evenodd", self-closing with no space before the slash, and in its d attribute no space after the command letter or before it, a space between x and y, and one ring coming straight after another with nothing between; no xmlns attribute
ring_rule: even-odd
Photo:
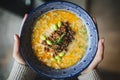
<svg viewBox="0 0 120 80"><path fill-rule="evenodd" d="M18 35L14 35L14 47L13 47L13 58L20 64L25 64L24 59L22 58L19 47L20 47L20 40Z"/></svg>

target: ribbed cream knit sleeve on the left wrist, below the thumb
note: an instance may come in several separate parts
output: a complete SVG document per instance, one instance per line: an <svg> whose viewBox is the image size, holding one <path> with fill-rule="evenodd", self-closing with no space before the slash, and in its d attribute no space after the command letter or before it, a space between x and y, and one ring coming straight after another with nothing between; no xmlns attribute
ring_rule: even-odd
<svg viewBox="0 0 120 80"><path fill-rule="evenodd" d="M14 62L7 80L35 80L36 74L26 65Z"/></svg>

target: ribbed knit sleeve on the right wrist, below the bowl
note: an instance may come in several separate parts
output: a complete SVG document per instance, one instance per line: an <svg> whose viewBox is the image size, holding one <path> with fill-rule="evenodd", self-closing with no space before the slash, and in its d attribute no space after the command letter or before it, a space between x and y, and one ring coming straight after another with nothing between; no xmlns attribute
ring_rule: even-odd
<svg viewBox="0 0 120 80"><path fill-rule="evenodd" d="M87 74L82 74L78 76L78 80L101 80L97 71L94 69Z"/></svg>

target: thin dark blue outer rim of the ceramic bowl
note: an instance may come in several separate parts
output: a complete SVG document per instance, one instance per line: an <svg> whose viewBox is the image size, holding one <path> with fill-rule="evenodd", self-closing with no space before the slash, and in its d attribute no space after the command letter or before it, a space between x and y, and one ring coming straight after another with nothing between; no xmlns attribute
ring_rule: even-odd
<svg viewBox="0 0 120 80"><path fill-rule="evenodd" d="M70 3L70 4L76 5L76 6L78 6L79 8L81 8L81 9L91 18L92 22L94 23L94 26L96 27L96 30L97 30L97 43L98 43L98 40L99 40L99 32L98 32L98 28L97 28L97 26L96 26L93 18L90 16L90 14L89 14L85 9L83 9L81 6L79 6L79 5L75 4L75 3L72 3L72 2L68 2L68 1L50 1L50 2L44 3L44 4L40 5L40 6L38 6L37 8L33 9L33 10L29 13L29 15L27 16L24 24L25 24L26 21L29 19L29 17L32 16L32 14L34 13L34 11L40 9L40 7L45 6L45 5L49 4L49 3L56 3L56 2ZM24 24L23 24L22 29L21 29L21 31L20 31L20 32L21 32L21 33L20 33L20 39L21 39L21 35L22 35L22 30L23 30L23 28L24 28ZM98 47L98 44L96 44L96 45L97 45L97 47ZM26 56L24 55L24 52L22 51L22 46L20 46L20 51L21 51L21 54L22 54L25 62L27 63L27 65L28 65L33 71L39 73L39 71L38 71L37 69L35 69L34 66L32 66L32 65L27 61ZM96 51L97 51L97 48L96 48ZM95 57L95 55L96 55L96 51L95 51L94 57ZM94 59L94 58L92 58L92 60L89 61L89 64L88 64L86 67L84 67L83 70L85 70L85 69L91 64L91 62L93 61L93 59ZM63 77L63 78L69 78L69 77L77 76L77 75L79 75L79 73L81 73L81 72L78 72L78 73L76 73L76 74L74 74L74 75L67 76L67 77ZM43 73L41 73L41 74L43 74ZM48 76L48 75L46 75L46 74L43 74L43 75L44 75L45 77L58 79L57 77Z"/></svg>

